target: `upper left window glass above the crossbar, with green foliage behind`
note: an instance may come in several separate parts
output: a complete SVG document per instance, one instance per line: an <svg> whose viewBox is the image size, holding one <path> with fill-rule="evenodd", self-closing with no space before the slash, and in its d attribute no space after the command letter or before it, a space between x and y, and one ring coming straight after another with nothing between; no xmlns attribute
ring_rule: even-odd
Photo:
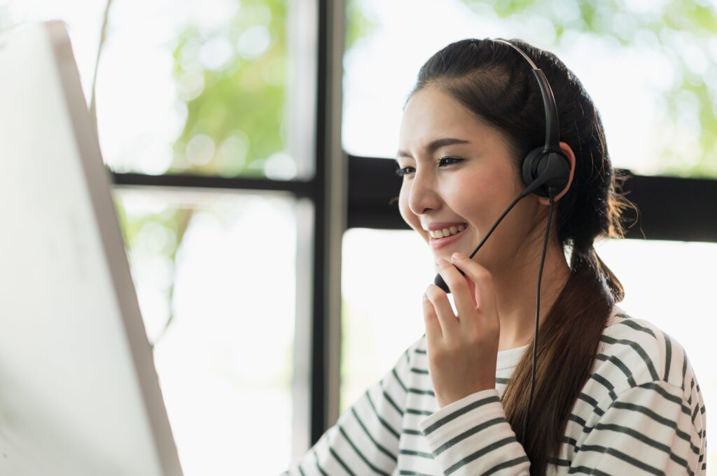
<svg viewBox="0 0 717 476"><path fill-rule="evenodd" d="M66 21L89 104L106 2L4 2L0 27ZM111 2L96 83L105 162L117 172L151 175L295 178L295 149L286 140L295 95L288 4Z"/></svg>

